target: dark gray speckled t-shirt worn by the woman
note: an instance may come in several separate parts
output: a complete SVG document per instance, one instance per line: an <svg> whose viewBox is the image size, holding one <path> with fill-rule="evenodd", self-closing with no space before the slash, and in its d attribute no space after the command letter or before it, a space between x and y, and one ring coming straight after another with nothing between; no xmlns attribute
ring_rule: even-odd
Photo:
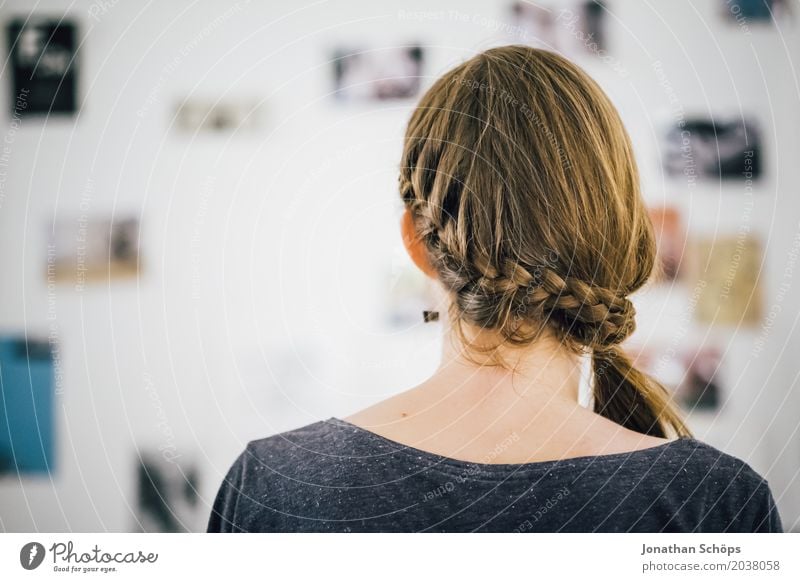
<svg viewBox="0 0 800 582"><path fill-rule="evenodd" d="M501 443L502 444L502 443ZM767 481L693 438L595 457L472 463L337 418L250 442L211 532L780 532Z"/></svg>

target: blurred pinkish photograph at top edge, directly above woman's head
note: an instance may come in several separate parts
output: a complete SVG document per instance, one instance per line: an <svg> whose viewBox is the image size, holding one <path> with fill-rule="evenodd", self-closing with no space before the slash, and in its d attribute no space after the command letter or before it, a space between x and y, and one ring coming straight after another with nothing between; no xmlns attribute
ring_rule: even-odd
<svg viewBox="0 0 800 582"><path fill-rule="evenodd" d="M608 49L605 20L606 8L600 0L511 4L515 36L532 46L571 55Z"/></svg>

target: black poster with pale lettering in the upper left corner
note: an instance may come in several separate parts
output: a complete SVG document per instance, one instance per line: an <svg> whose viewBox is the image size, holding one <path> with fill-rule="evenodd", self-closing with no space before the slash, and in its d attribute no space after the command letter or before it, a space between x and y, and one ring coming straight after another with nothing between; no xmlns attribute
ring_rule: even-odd
<svg viewBox="0 0 800 582"><path fill-rule="evenodd" d="M75 113L78 107L75 23L67 19L18 18L8 23L7 39L15 114Z"/></svg>

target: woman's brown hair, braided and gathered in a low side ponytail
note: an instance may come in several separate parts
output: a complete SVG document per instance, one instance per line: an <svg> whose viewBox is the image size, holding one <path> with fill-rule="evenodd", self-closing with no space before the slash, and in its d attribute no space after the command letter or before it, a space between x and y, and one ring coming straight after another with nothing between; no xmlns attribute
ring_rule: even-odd
<svg viewBox="0 0 800 582"><path fill-rule="evenodd" d="M627 132L580 68L505 46L446 73L409 121L400 193L465 346L498 353L470 345L470 328L512 346L552 335L591 354L597 413L644 434L691 434L620 348L655 240Z"/></svg>

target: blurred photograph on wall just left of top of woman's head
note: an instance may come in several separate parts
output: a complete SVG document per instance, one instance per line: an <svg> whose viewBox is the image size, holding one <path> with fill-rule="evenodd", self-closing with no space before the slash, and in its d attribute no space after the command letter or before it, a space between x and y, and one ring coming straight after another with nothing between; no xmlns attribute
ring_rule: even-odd
<svg viewBox="0 0 800 582"><path fill-rule="evenodd" d="M419 94L421 46L335 51L334 86L341 101L411 99Z"/></svg>

